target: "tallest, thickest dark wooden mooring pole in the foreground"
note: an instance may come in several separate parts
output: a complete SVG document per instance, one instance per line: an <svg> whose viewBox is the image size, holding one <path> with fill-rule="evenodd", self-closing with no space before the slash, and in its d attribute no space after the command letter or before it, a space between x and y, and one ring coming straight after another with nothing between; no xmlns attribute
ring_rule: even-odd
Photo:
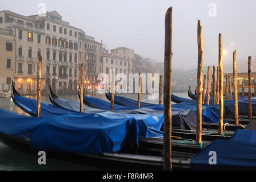
<svg viewBox="0 0 256 182"><path fill-rule="evenodd" d="M164 141L163 160L164 170L172 170L172 7L165 15L165 44L164 44Z"/></svg>

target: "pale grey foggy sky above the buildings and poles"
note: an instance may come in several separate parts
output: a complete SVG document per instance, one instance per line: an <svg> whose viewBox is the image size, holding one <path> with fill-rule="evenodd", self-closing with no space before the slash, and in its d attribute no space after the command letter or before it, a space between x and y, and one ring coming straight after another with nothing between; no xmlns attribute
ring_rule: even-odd
<svg viewBox="0 0 256 182"><path fill-rule="evenodd" d="M38 4L46 3L47 11L56 10L71 26L81 28L86 35L103 40L109 48L129 47L143 57L164 61L164 14L173 7L173 66L197 67L197 19L203 23L204 65L218 63L218 34L224 38L224 64L237 59L247 63L255 59L256 1L232 0L84 0L3 1L1 10L22 15L38 13ZM209 4L216 3L217 16L209 16ZM231 44L233 42L233 45ZM239 64L239 63L238 63ZM254 64L254 62L253 62ZM253 67L255 67L253 65ZM225 71L225 70L224 70Z"/></svg>

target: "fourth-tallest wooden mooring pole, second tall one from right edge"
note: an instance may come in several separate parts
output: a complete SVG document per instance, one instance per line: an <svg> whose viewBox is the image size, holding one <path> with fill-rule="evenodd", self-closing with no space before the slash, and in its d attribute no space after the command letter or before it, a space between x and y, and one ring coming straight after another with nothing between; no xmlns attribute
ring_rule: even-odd
<svg viewBox="0 0 256 182"><path fill-rule="evenodd" d="M239 125L238 116L238 93L237 93L237 51L233 52L233 77L234 77L234 114L235 125ZM231 77L230 77L231 80Z"/></svg>

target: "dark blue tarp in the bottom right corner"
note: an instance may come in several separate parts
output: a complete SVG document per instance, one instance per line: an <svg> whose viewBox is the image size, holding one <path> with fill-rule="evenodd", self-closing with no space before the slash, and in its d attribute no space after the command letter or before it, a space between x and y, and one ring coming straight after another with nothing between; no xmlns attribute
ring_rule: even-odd
<svg viewBox="0 0 256 182"><path fill-rule="evenodd" d="M233 137L214 140L191 160L197 170L255 170L256 131L237 130ZM217 165L209 164L209 152L216 152Z"/></svg>

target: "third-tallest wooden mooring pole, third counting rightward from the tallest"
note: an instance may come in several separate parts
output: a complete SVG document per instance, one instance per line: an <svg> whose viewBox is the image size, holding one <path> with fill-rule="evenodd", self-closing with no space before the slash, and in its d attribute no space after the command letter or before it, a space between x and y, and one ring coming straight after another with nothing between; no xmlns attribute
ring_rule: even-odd
<svg viewBox="0 0 256 182"><path fill-rule="evenodd" d="M218 68L219 71L219 79L220 79L220 92L219 92L219 117L218 117L218 134L223 134L223 115L224 115L224 100L223 100L223 40L222 34L218 34Z"/></svg>

